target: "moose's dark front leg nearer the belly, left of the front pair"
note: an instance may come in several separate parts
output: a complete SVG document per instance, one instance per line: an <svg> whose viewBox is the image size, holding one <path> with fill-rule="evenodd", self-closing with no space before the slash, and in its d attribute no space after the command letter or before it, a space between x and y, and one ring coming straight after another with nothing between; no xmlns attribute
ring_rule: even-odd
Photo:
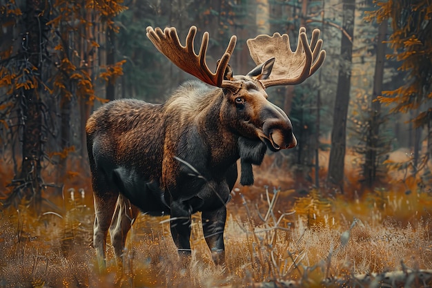
<svg viewBox="0 0 432 288"><path fill-rule="evenodd" d="M171 235L179 256L190 256L190 216L192 209L183 202L171 202Z"/></svg>

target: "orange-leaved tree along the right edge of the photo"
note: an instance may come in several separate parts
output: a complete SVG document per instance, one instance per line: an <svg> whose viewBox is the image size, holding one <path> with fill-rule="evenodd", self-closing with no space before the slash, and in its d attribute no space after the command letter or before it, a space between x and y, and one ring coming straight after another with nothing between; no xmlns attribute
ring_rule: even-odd
<svg viewBox="0 0 432 288"><path fill-rule="evenodd" d="M391 19L393 32L389 44L393 53L389 59L401 62L400 70L407 77L394 90L382 91L377 97L381 103L391 105L392 113L413 113L415 127L426 128L427 154L423 164L432 155L432 10L428 0L377 1L378 9L368 15L378 23ZM413 167L414 171L418 167Z"/></svg>

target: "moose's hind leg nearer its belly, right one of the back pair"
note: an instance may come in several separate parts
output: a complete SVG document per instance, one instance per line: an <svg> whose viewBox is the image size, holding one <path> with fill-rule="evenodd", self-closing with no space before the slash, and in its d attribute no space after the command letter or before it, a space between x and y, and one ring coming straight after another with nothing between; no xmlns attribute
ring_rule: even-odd
<svg viewBox="0 0 432 288"><path fill-rule="evenodd" d="M124 265L126 236L135 218L137 218L138 212L137 207L130 204L130 201L123 195L119 195L110 226L111 244L114 247L115 260L119 269L127 268Z"/></svg>

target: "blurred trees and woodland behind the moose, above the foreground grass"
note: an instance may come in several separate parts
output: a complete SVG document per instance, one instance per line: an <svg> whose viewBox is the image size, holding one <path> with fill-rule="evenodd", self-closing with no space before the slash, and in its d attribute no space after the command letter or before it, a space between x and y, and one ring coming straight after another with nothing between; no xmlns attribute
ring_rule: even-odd
<svg viewBox="0 0 432 288"><path fill-rule="evenodd" d="M430 1L1 0L0 195L6 205L90 191L85 124L113 99L163 103L191 79L146 37L210 33L215 69L231 35L235 74L255 66L246 39L321 30L326 61L297 86L269 88L298 145L266 158L257 185L361 197L399 185L431 192ZM204 99L205 101L205 99ZM257 171L261 171L258 170ZM262 175L262 174L261 174ZM259 180L260 177L265 180ZM251 189L251 188L246 188Z"/></svg>

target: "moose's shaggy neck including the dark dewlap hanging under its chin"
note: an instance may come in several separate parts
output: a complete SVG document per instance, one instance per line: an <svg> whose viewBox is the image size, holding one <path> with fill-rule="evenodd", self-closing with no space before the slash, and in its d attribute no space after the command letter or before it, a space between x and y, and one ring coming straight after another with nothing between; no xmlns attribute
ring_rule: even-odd
<svg viewBox="0 0 432 288"><path fill-rule="evenodd" d="M261 164L266 145L235 132L226 119L226 95L220 88L213 88L198 81L182 85L165 104L166 131L171 143L188 147L189 152L173 147L173 156L193 164L198 171L211 171L222 175L241 159L244 185L253 184L252 164ZM170 116L175 117L170 117ZM205 163L200 160L206 160ZM198 161L199 159L199 161ZM196 166L197 165L197 166ZM222 174L221 174L222 173Z"/></svg>

